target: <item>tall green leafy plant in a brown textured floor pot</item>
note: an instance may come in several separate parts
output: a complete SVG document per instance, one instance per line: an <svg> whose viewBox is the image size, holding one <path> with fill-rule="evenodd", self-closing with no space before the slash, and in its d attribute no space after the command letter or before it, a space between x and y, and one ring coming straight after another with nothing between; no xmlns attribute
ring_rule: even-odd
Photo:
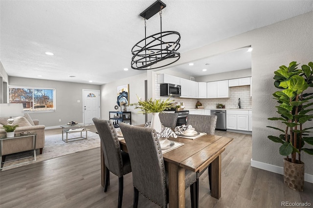
<svg viewBox="0 0 313 208"><path fill-rule="evenodd" d="M270 135L268 139L282 144L279 153L286 156L284 183L293 190L303 191L304 163L301 161L301 151L313 155L313 148L308 148L308 145L313 145L313 137L309 135L313 127L304 125L313 118L313 93L306 93L313 87L313 62L302 65L301 69L297 68L298 65L291 62L289 67L282 65L274 72L274 85L280 90L273 96L279 104L276 107L280 117L268 120L281 121L285 127L267 127L282 132L278 136Z"/></svg>

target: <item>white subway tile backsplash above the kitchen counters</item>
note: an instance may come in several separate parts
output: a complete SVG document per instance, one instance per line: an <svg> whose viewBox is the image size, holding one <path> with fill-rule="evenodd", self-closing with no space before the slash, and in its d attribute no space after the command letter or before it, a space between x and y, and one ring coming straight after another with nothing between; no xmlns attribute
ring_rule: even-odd
<svg viewBox="0 0 313 208"><path fill-rule="evenodd" d="M160 98L160 84L155 82L156 98ZM225 108L238 108L238 99L242 108L252 108L252 97L250 97L250 85L229 87L229 98L192 99L173 98L175 102L184 102L185 109L196 108L199 101L205 108L216 108L216 104L224 104ZM165 97L162 97L165 98Z"/></svg>

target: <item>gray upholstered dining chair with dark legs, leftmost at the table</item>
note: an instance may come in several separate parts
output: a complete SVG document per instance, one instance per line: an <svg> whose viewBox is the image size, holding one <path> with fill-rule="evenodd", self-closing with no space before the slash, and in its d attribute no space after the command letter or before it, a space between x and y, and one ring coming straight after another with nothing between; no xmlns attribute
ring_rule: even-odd
<svg viewBox="0 0 313 208"><path fill-rule="evenodd" d="M104 192L110 185L110 172L118 177L118 208L123 201L123 176L132 172L128 153L121 150L115 128L111 121L92 119L100 137L104 161L106 165L106 178Z"/></svg>

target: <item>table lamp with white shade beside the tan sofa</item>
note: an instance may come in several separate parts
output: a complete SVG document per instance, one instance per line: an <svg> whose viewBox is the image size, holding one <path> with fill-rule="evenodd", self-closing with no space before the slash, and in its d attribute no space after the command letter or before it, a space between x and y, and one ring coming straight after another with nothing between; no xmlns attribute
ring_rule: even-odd
<svg viewBox="0 0 313 208"><path fill-rule="evenodd" d="M8 125L13 125L16 116L24 116L23 104L0 104L0 117L10 117Z"/></svg>

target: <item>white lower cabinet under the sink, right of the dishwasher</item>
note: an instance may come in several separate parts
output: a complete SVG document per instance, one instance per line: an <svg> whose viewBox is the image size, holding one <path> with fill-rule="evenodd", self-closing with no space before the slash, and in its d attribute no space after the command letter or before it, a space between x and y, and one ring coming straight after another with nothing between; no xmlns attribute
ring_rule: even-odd
<svg viewBox="0 0 313 208"><path fill-rule="evenodd" d="M251 111L252 114L252 111ZM226 110L226 128L249 131L249 111L248 110Z"/></svg>

